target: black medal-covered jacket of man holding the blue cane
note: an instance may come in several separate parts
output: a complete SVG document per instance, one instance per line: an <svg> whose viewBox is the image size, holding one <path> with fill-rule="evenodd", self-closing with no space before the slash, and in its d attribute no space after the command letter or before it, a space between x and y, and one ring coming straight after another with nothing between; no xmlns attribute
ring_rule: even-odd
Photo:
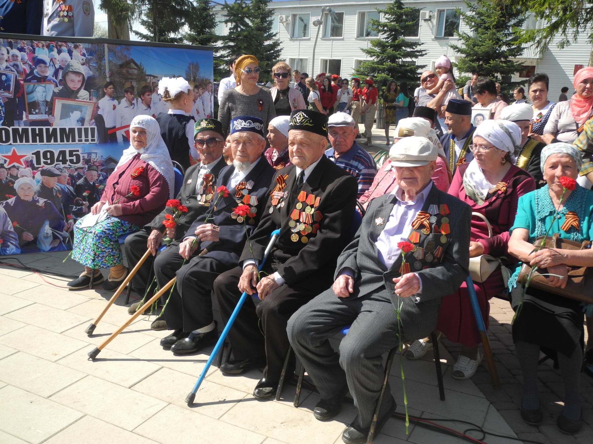
<svg viewBox="0 0 593 444"><path fill-rule="evenodd" d="M286 188L283 190L291 195L292 187L296 185L297 173L294 165L282 168L274 175L270 191L276 185L276 177L288 173ZM268 198L263 217L257 229L249 237L253 248L254 257L262 260L270 234L280 229L280 236L272 250L272 258L278 265L278 273L285 279L286 284L297 284L300 287L311 288L319 292L328 288L333 282L333 273L336 268L337 257L342 252L350 239L350 225L354 218L356 193L358 184L352 175L339 166L334 165L326 156L315 166L307 181L302 185L302 191L320 198L318 207L323 216L317 233L293 233L288 223L291 213L298 200L289 207L288 198L285 205L280 208L273 207L272 200ZM304 203L304 202L303 202ZM306 204L305 204L306 205ZM301 208L304 211L305 206ZM292 234L298 234L297 242L291 240ZM302 237L308 239L302 242ZM246 243L240 260L251 259L251 252ZM270 260L270 258L269 258ZM271 262L271 261L270 261Z"/></svg>

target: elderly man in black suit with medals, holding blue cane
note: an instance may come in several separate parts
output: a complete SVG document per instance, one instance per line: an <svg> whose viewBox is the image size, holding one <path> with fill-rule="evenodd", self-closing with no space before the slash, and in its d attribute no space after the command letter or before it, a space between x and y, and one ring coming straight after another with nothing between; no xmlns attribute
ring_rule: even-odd
<svg viewBox="0 0 593 444"><path fill-rule="evenodd" d="M234 360L221 366L224 374L237 375L267 364L253 392L258 398L271 397L276 391L289 346L286 323L320 289L330 287L354 217L356 179L324 155L326 137L326 115L292 112L288 131L292 165L276 173L262 220L239 259L241 266L214 282L225 321L241 292L253 295L257 291L259 295L260 303L246 303L241 308L228 335ZM276 229L280 235L263 268L267 274L257 282L256 263L262 260Z"/></svg>

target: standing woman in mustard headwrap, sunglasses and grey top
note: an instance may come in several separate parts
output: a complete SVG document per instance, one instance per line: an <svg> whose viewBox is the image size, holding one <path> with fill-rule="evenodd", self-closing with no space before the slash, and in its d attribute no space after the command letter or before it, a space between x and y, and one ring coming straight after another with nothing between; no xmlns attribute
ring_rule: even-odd
<svg viewBox="0 0 593 444"><path fill-rule="evenodd" d="M231 119L239 115L259 117L267 128L270 120L276 117L276 110L270 92L257 85L260 74L257 58L251 55L239 57L235 60L235 74L237 86L224 92L218 109L222 128L229 131Z"/></svg>

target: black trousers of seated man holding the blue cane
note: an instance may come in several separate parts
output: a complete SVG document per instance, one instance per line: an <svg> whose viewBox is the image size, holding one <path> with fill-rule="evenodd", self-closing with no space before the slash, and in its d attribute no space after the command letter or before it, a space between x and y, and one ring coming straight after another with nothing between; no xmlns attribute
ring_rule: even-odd
<svg viewBox="0 0 593 444"><path fill-rule="evenodd" d="M273 265L270 272L274 272ZM241 274L243 269L237 267L221 274L214 281L214 294L225 323L241 297L237 288ZM253 298L248 297L228 334L234 358L242 360L266 355L267 366L263 377L278 381L290 345L286 324L292 314L315 295L317 292L310 289L283 284L257 304ZM289 363L289 369L294 371L294 358Z"/></svg>

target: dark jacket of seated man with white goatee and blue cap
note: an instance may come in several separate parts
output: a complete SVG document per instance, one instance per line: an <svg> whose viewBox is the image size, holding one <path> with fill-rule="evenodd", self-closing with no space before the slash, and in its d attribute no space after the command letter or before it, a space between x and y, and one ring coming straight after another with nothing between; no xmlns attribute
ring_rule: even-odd
<svg viewBox="0 0 593 444"><path fill-rule="evenodd" d="M227 185L229 178L234 173L235 167L228 165L222 170L219 175L216 187ZM213 211L211 218L206 221L206 217L210 214L210 208L205 214L200 215L192 226L187 230L187 236L193 236L197 227L204 223L215 224L220 227L217 242L205 241L200 242L196 254L199 254L203 249L208 249L206 256L215 258L221 263L224 263L228 268L237 266L239 262L239 255L243 250L243 245L247 240L247 236L253 233L255 227L260 222L266 205L267 195L269 193L270 182L276 172L275 169L267 162L266 157L262 155L256 166L245 176L245 182L253 181L253 186L250 189L249 195L257 197L256 215L253 218L253 223L250 223L249 217L246 218L246 223L240 223L237 219L231 217L233 208L242 205L243 202L235 198L235 188L229 189L228 197L221 198L216 204L216 210ZM216 197L212 199L212 202ZM250 205L251 206L251 205ZM247 250L249 248L247 247ZM250 256L251 257L251 256Z"/></svg>

